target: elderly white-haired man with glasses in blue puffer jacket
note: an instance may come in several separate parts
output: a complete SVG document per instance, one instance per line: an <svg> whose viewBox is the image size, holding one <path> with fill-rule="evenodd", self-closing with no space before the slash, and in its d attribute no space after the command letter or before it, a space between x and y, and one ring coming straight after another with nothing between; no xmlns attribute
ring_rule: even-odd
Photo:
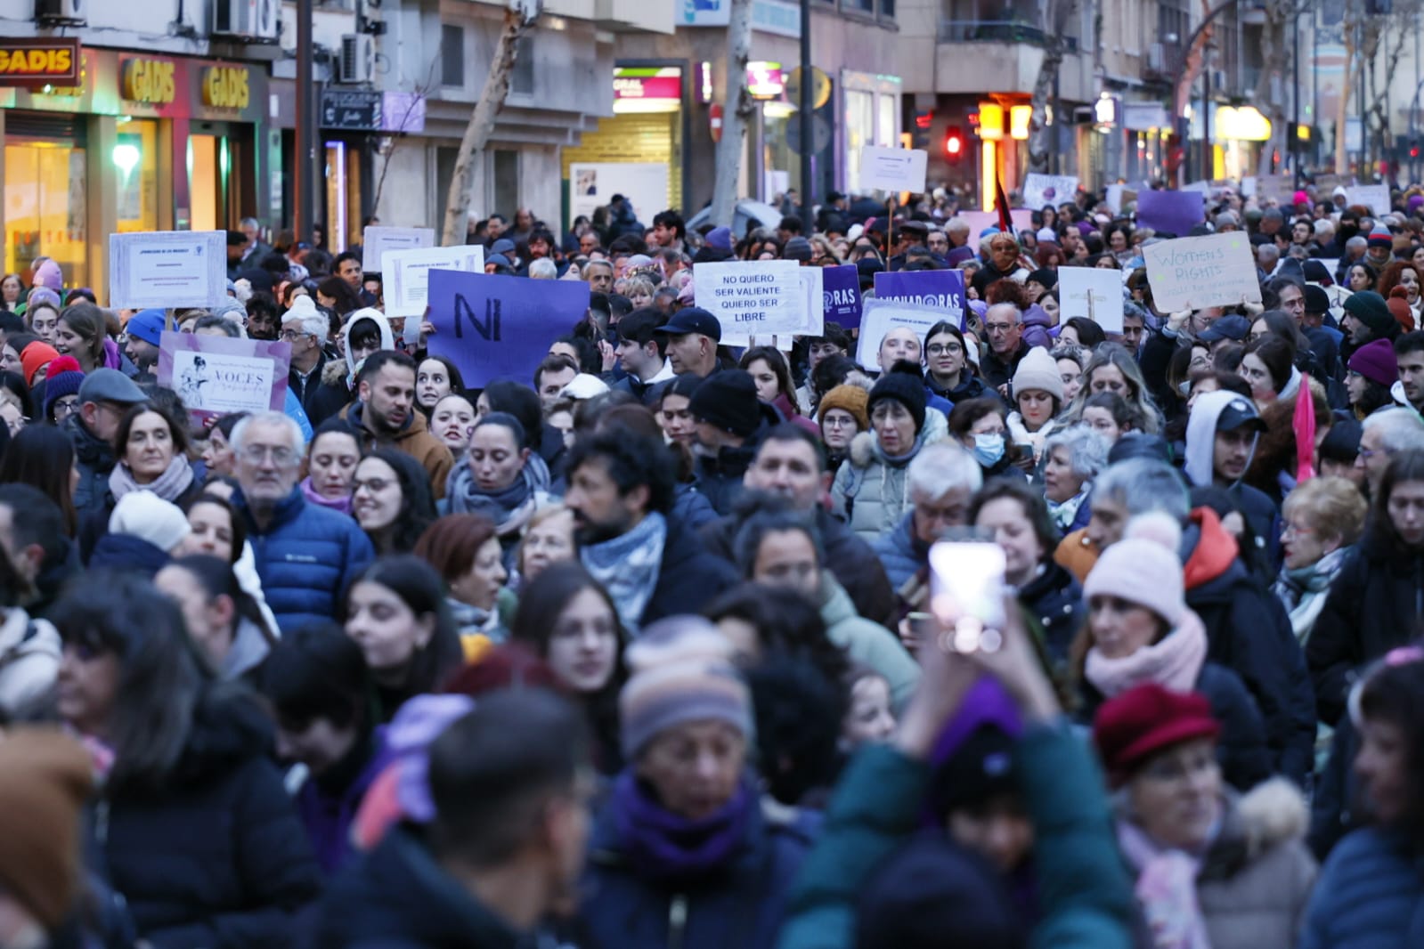
<svg viewBox="0 0 1424 949"><path fill-rule="evenodd" d="M258 576L282 633L337 615L345 590L375 559L353 519L306 501L298 487L302 431L282 413L232 430L238 491L232 507L256 553Z"/></svg>

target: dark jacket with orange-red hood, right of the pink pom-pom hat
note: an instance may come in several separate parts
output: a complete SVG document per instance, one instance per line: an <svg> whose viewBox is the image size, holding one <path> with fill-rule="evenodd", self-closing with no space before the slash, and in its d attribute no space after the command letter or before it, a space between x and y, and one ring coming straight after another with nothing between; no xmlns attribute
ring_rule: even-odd
<svg viewBox="0 0 1424 949"><path fill-rule="evenodd" d="M1260 709L1272 765L1303 784L1314 763L1314 693L1290 617L1237 558L1210 508L1182 532L1186 605L1206 626L1206 657L1240 676Z"/></svg>

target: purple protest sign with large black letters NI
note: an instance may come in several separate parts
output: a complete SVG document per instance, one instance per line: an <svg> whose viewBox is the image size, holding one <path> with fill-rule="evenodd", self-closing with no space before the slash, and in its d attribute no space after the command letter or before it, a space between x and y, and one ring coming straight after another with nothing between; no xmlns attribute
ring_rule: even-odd
<svg viewBox="0 0 1424 949"><path fill-rule="evenodd" d="M461 270L430 272L427 340L431 356L446 356L467 388L500 377L521 383L548 354L548 341L588 313L581 280L530 280Z"/></svg>

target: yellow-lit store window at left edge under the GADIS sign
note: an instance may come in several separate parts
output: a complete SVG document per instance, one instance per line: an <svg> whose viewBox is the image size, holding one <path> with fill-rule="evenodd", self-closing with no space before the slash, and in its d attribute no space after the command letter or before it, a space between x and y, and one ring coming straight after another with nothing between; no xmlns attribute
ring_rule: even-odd
<svg viewBox="0 0 1424 949"><path fill-rule="evenodd" d="M24 276L44 255L60 265L64 286L88 286L84 162L84 148L70 142L6 138L6 273Z"/></svg>

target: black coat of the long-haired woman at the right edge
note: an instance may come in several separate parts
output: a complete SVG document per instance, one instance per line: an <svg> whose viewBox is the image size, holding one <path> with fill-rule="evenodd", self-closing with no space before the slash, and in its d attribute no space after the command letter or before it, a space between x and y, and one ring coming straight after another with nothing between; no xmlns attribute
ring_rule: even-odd
<svg viewBox="0 0 1424 949"><path fill-rule="evenodd" d="M1330 585L1306 647L1320 720L1344 713L1356 673L1424 632L1424 555L1370 534Z"/></svg>

